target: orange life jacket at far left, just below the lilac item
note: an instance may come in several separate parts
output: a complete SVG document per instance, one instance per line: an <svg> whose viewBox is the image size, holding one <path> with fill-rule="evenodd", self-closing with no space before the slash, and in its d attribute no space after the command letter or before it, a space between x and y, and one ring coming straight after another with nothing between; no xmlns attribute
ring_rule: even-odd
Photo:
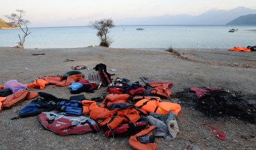
<svg viewBox="0 0 256 150"><path fill-rule="evenodd" d="M35 98L36 96L38 96L38 93L28 90L15 92L14 94L10 94L6 97L3 107L10 108L22 100L29 100Z"/></svg>

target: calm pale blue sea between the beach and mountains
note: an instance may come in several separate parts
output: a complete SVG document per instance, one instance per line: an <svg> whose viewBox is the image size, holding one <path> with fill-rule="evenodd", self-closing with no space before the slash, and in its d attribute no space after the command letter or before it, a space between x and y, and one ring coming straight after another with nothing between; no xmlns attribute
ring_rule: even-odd
<svg viewBox="0 0 256 150"><path fill-rule="evenodd" d="M109 36L113 48L230 49L256 45L256 26L116 26ZM228 33L229 29L238 29ZM73 48L99 45L97 31L81 27L29 27L25 48ZM0 47L13 47L20 29L1 29Z"/></svg>

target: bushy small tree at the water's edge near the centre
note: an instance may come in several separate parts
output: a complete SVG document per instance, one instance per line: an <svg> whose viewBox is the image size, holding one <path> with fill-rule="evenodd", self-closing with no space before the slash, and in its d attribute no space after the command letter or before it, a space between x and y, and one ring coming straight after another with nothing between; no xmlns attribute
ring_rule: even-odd
<svg viewBox="0 0 256 150"><path fill-rule="evenodd" d="M100 19L89 23L93 29L97 29L97 36L100 38L100 46L109 47L113 43L113 38L107 36L109 29L115 27L112 19Z"/></svg>

